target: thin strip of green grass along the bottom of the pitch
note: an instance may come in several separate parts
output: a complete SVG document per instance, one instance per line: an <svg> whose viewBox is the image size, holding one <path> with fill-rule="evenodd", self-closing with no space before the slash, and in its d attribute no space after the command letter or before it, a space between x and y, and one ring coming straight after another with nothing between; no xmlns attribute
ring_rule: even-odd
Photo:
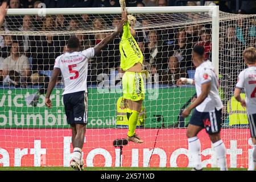
<svg viewBox="0 0 256 182"><path fill-rule="evenodd" d="M70 167L0 167L0 171L73 171ZM191 168L143 168L143 167L87 167L84 171L190 171ZM246 168L229 168L230 171L245 171ZM204 168L218 171L218 168Z"/></svg>

